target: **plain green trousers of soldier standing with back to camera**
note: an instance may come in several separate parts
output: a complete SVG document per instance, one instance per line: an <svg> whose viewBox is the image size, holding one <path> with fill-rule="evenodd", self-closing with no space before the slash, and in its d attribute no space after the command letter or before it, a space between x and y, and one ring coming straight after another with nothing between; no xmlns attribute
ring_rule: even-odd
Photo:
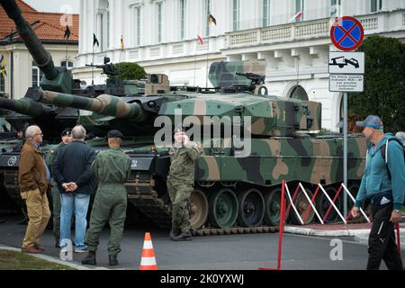
<svg viewBox="0 0 405 288"><path fill-rule="evenodd" d="M117 256L121 252L121 238L127 211L127 191L123 184L100 184L95 193L90 227L85 233L85 245L96 251L100 234L108 221L111 229L108 253Z"/></svg>

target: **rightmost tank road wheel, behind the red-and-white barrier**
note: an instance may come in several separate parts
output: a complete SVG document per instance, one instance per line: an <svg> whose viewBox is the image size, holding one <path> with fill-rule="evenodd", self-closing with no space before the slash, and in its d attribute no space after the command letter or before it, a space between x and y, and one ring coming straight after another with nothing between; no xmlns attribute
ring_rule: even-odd
<svg viewBox="0 0 405 288"><path fill-rule="evenodd" d="M338 193L338 190L333 186L326 187L325 191L326 191L326 193L328 193L329 198L331 200L333 200L336 193ZM338 199L335 201L335 205L339 211L342 211L342 203L343 203L343 201L341 198L341 194L339 194ZM325 196L325 194L322 193L322 191L320 191L317 195L317 199L315 200L315 207L317 208L318 212L320 213L320 217L322 219L323 219L323 216L325 216L326 212L328 211L329 205L330 205L330 202L329 202L327 196ZM326 223L335 222L336 220L339 220L339 219L340 219L340 217L338 215L338 212L332 206L325 222Z"/></svg>

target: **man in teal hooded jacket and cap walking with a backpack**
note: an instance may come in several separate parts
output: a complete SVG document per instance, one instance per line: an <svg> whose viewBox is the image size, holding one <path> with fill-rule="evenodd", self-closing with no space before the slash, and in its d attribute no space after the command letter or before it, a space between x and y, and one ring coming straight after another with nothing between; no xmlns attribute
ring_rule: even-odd
<svg viewBox="0 0 405 288"><path fill-rule="evenodd" d="M351 213L357 217L359 207L370 198L373 226L368 238L367 270L379 269L382 260L390 270L402 270L401 255L395 244L394 223L401 221L405 193L405 165L401 139L383 132L380 117L370 115L356 121L370 141L365 158L365 174Z"/></svg>

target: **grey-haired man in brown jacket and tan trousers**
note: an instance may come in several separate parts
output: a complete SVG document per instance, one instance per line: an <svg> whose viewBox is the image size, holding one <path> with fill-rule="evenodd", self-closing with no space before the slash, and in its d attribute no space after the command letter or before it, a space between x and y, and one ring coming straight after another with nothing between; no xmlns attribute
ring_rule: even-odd
<svg viewBox="0 0 405 288"><path fill-rule="evenodd" d="M40 237L50 217L47 198L50 173L40 151L42 136L38 126L32 125L25 130L26 141L18 166L18 185L30 220L21 250L28 253L40 253L44 250L40 247Z"/></svg>

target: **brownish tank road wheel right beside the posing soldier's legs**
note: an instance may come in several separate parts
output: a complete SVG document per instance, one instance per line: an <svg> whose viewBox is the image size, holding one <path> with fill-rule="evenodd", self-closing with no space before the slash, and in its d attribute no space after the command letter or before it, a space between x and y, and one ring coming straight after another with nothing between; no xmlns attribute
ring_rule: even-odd
<svg viewBox="0 0 405 288"><path fill-rule="evenodd" d="M194 189L190 197L190 225L193 229L202 227L208 216L208 200L205 194L199 190Z"/></svg>

